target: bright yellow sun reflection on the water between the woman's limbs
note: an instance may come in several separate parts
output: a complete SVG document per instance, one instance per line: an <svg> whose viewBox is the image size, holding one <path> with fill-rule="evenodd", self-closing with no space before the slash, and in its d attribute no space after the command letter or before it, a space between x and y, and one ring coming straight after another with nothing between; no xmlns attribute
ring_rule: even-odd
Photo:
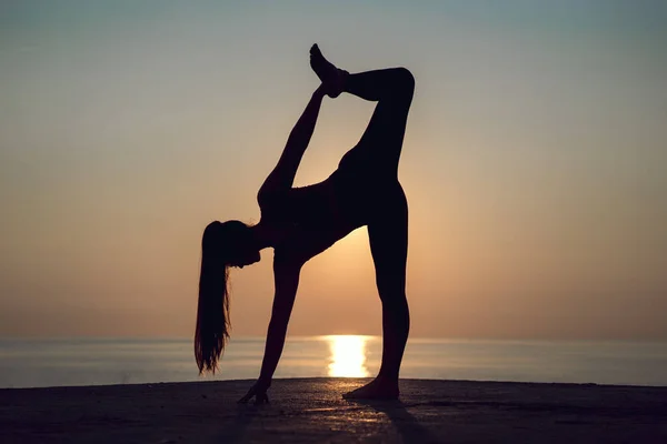
<svg viewBox="0 0 667 444"><path fill-rule="evenodd" d="M331 356L329 359L329 376L365 377L370 373L366 369L367 336L332 335L326 336Z"/></svg>

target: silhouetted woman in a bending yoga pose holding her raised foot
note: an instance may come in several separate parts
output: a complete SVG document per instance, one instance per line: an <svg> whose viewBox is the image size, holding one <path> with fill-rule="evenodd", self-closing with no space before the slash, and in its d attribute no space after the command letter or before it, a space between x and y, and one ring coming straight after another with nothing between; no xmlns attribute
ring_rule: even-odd
<svg viewBox="0 0 667 444"><path fill-rule="evenodd" d="M408 206L397 173L415 79L405 68L350 74L327 61L317 44L310 49L310 65L321 84L259 190L260 222L216 221L203 232L197 364L200 372L215 372L229 337L229 268L258 262L259 251L272 246L275 296L263 362L258 381L240 402L268 400L266 393L285 345L301 266L352 230L367 225L382 303L382 363L372 382L344 396L396 398L410 323L406 299ZM293 188L322 99L341 92L377 102L368 128L329 178Z"/></svg>

